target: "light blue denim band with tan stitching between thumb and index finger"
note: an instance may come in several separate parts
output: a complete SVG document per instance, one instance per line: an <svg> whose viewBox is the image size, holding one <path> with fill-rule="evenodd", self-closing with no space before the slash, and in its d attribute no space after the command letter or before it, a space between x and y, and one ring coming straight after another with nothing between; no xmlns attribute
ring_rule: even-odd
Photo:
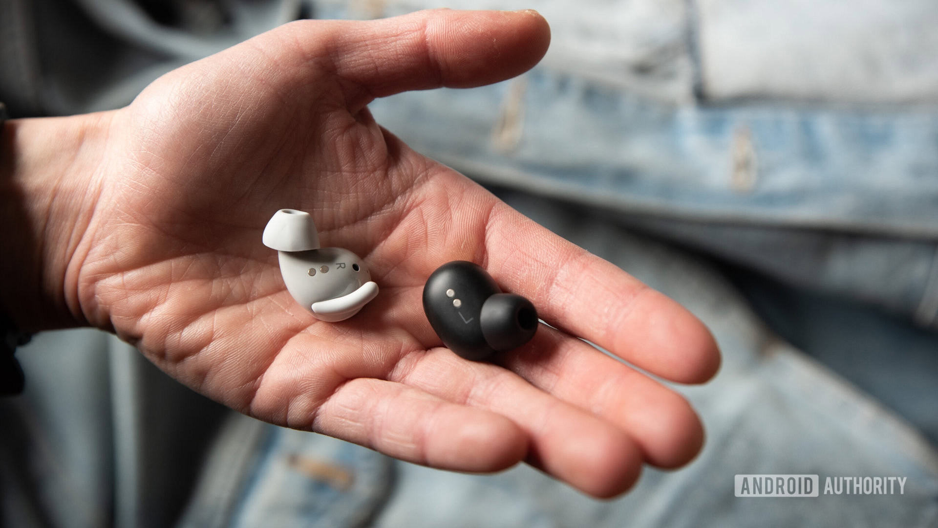
<svg viewBox="0 0 938 528"><path fill-rule="evenodd" d="M401 94L372 113L418 151L538 193L697 220L938 234L938 114L669 107L545 70L525 79L510 152L492 136L511 82Z"/></svg>

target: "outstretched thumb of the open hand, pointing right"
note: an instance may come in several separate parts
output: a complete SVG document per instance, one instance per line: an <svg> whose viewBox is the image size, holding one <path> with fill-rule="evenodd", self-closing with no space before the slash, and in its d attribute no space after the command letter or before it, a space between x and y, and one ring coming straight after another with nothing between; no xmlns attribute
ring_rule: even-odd
<svg viewBox="0 0 938 528"><path fill-rule="evenodd" d="M432 9L366 22L299 21L288 30L305 58L368 99L504 81L534 67L551 41L547 21L531 9Z"/></svg>

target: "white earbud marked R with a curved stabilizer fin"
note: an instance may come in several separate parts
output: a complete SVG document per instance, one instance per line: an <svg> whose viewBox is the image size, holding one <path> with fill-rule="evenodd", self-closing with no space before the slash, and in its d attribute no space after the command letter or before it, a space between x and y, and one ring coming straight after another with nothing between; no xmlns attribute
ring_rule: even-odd
<svg viewBox="0 0 938 528"><path fill-rule="evenodd" d="M351 318L378 295L378 285L356 254L319 247L319 233L308 212L277 211L264 228L263 241L280 256L287 290L318 319Z"/></svg>

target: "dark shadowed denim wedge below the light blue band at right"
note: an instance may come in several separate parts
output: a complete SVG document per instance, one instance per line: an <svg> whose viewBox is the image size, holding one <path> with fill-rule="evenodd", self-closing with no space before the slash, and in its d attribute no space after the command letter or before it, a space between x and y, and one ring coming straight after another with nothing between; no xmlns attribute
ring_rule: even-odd
<svg viewBox="0 0 938 528"><path fill-rule="evenodd" d="M932 240L621 213L616 220L785 284L875 305L932 332L938 328L938 244Z"/></svg>

